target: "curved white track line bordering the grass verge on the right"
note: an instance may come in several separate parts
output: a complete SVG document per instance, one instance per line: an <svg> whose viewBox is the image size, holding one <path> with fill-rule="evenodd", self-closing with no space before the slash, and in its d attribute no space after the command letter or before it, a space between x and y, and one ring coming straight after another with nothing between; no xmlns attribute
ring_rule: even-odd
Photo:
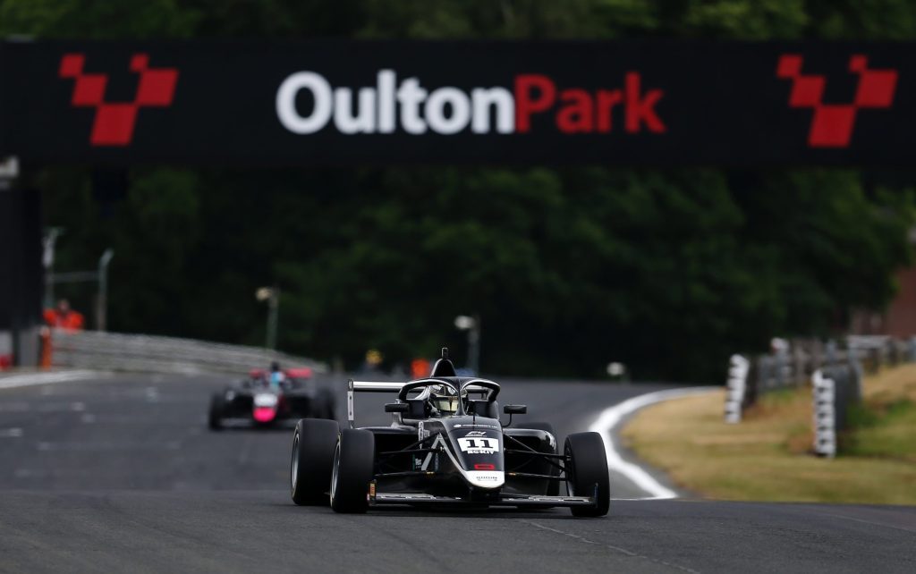
<svg viewBox="0 0 916 574"><path fill-rule="evenodd" d="M645 491L649 496L640 500L656 500L663 498L677 498L670 488L655 479L649 472L639 467L637 464L624 460L617 451L614 441L614 430L620 425L620 422L629 415L632 415L640 408L654 405L662 401L681 398L690 395L703 395L712 391L721 390L719 386L693 386L683 389L671 389L668 391L657 391L646 395L638 395L627 399L623 403L605 408L592 426L588 429L601 433L605 439L605 452L607 453L607 466L612 471L617 471L627 477L637 487Z"/></svg>

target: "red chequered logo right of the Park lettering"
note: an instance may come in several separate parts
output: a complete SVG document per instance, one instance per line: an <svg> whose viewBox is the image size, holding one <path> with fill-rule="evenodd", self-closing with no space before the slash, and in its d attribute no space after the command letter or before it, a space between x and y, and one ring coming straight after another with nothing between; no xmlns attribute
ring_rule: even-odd
<svg viewBox="0 0 916 574"><path fill-rule="evenodd" d="M849 146L859 109L889 108L893 103L897 70L868 70L868 59L856 54L849 59L849 71L859 75L853 103L823 103L827 79L824 76L802 74L803 61L798 54L783 54L776 75L792 81L790 107L814 110L808 146Z"/></svg>

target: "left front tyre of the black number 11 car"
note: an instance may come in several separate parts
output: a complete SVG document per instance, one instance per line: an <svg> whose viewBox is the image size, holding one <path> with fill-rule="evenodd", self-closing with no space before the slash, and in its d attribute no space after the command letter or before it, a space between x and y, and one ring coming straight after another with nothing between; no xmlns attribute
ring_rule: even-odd
<svg viewBox="0 0 916 574"><path fill-rule="evenodd" d="M376 437L368 430L341 431L334 452L331 507L339 513L365 513L372 481Z"/></svg>

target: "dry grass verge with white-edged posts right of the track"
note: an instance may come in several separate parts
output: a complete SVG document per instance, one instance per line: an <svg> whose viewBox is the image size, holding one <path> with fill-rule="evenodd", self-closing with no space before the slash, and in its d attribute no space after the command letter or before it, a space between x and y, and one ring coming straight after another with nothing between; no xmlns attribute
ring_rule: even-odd
<svg viewBox="0 0 916 574"><path fill-rule="evenodd" d="M916 504L916 365L866 378L833 460L811 454L810 389L766 395L726 425L725 391L643 409L627 446L694 493L722 500Z"/></svg>

